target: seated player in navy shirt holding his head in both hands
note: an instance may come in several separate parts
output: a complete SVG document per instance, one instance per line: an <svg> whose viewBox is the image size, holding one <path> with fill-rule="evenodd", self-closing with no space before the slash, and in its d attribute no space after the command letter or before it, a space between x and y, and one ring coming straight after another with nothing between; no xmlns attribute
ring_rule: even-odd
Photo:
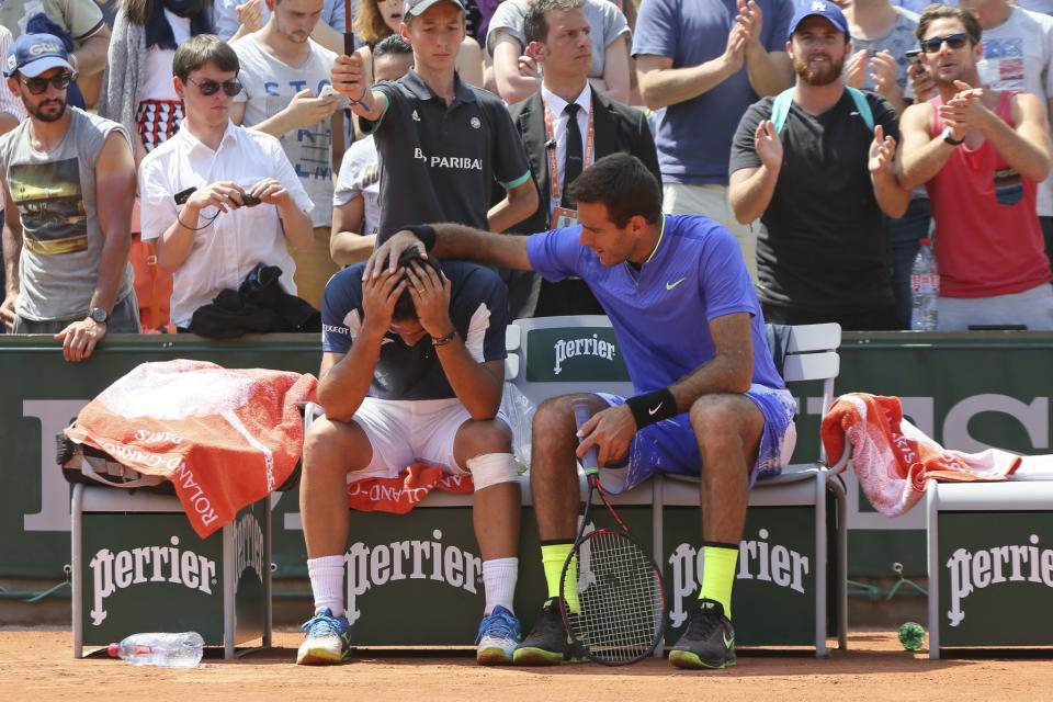
<svg viewBox="0 0 1053 702"><path fill-rule="evenodd" d="M508 295L497 273L482 265L440 267L416 250L397 263L370 280L360 263L326 284L318 374L326 416L304 438L299 485L315 615L304 624L296 660L333 664L350 655L343 592L349 479L395 477L424 462L472 475L486 592L476 659L511 663L520 641L512 597L522 496L512 433L498 414Z"/></svg>

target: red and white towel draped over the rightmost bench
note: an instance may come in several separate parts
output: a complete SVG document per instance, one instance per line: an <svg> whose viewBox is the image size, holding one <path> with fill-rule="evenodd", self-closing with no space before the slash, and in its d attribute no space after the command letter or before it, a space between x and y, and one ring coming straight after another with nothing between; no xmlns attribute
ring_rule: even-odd
<svg viewBox="0 0 1053 702"><path fill-rule="evenodd" d="M852 444L852 466L867 499L882 514L898 517L925 494L930 479L1005 480L1021 457L987 449L962 453L943 449L903 418L898 397L842 395L823 418L823 445L830 465Z"/></svg>

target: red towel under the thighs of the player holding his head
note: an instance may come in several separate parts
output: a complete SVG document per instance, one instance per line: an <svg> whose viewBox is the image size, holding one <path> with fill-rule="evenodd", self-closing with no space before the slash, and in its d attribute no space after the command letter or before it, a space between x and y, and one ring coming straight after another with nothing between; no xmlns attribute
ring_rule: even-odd
<svg viewBox="0 0 1053 702"><path fill-rule="evenodd" d="M348 505L363 512L405 514L437 487L457 495L471 495L475 489L469 474L450 475L442 466L415 463L398 477L348 483Z"/></svg>

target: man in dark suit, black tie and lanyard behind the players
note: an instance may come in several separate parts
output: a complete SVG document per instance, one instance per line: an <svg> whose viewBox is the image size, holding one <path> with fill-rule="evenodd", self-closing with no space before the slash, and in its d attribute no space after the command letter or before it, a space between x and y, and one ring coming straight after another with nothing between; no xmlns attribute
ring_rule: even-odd
<svg viewBox="0 0 1053 702"><path fill-rule="evenodd" d="M516 226L529 234L577 224L567 197L582 169L627 151L660 179L655 140L644 113L597 93L588 81L592 61L584 0L537 0L523 24L526 53L542 66L541 90L511 109L537 184L537 211ZM580 280L548 283L535 273L506 272L512 318L602 315Z"/></svg>

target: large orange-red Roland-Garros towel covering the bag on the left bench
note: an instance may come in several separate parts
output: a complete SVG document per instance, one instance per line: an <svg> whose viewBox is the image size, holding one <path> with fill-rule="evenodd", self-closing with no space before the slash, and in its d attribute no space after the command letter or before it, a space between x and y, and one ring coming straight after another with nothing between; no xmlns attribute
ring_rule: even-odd
<svg viewBox="0 0 1053 702"><path fill-rule="evenodd" d="M202 539L282 485L299 460L313 375L228 370L204 361L143 363L91 400L73 441L171 480Z"/></svg>

